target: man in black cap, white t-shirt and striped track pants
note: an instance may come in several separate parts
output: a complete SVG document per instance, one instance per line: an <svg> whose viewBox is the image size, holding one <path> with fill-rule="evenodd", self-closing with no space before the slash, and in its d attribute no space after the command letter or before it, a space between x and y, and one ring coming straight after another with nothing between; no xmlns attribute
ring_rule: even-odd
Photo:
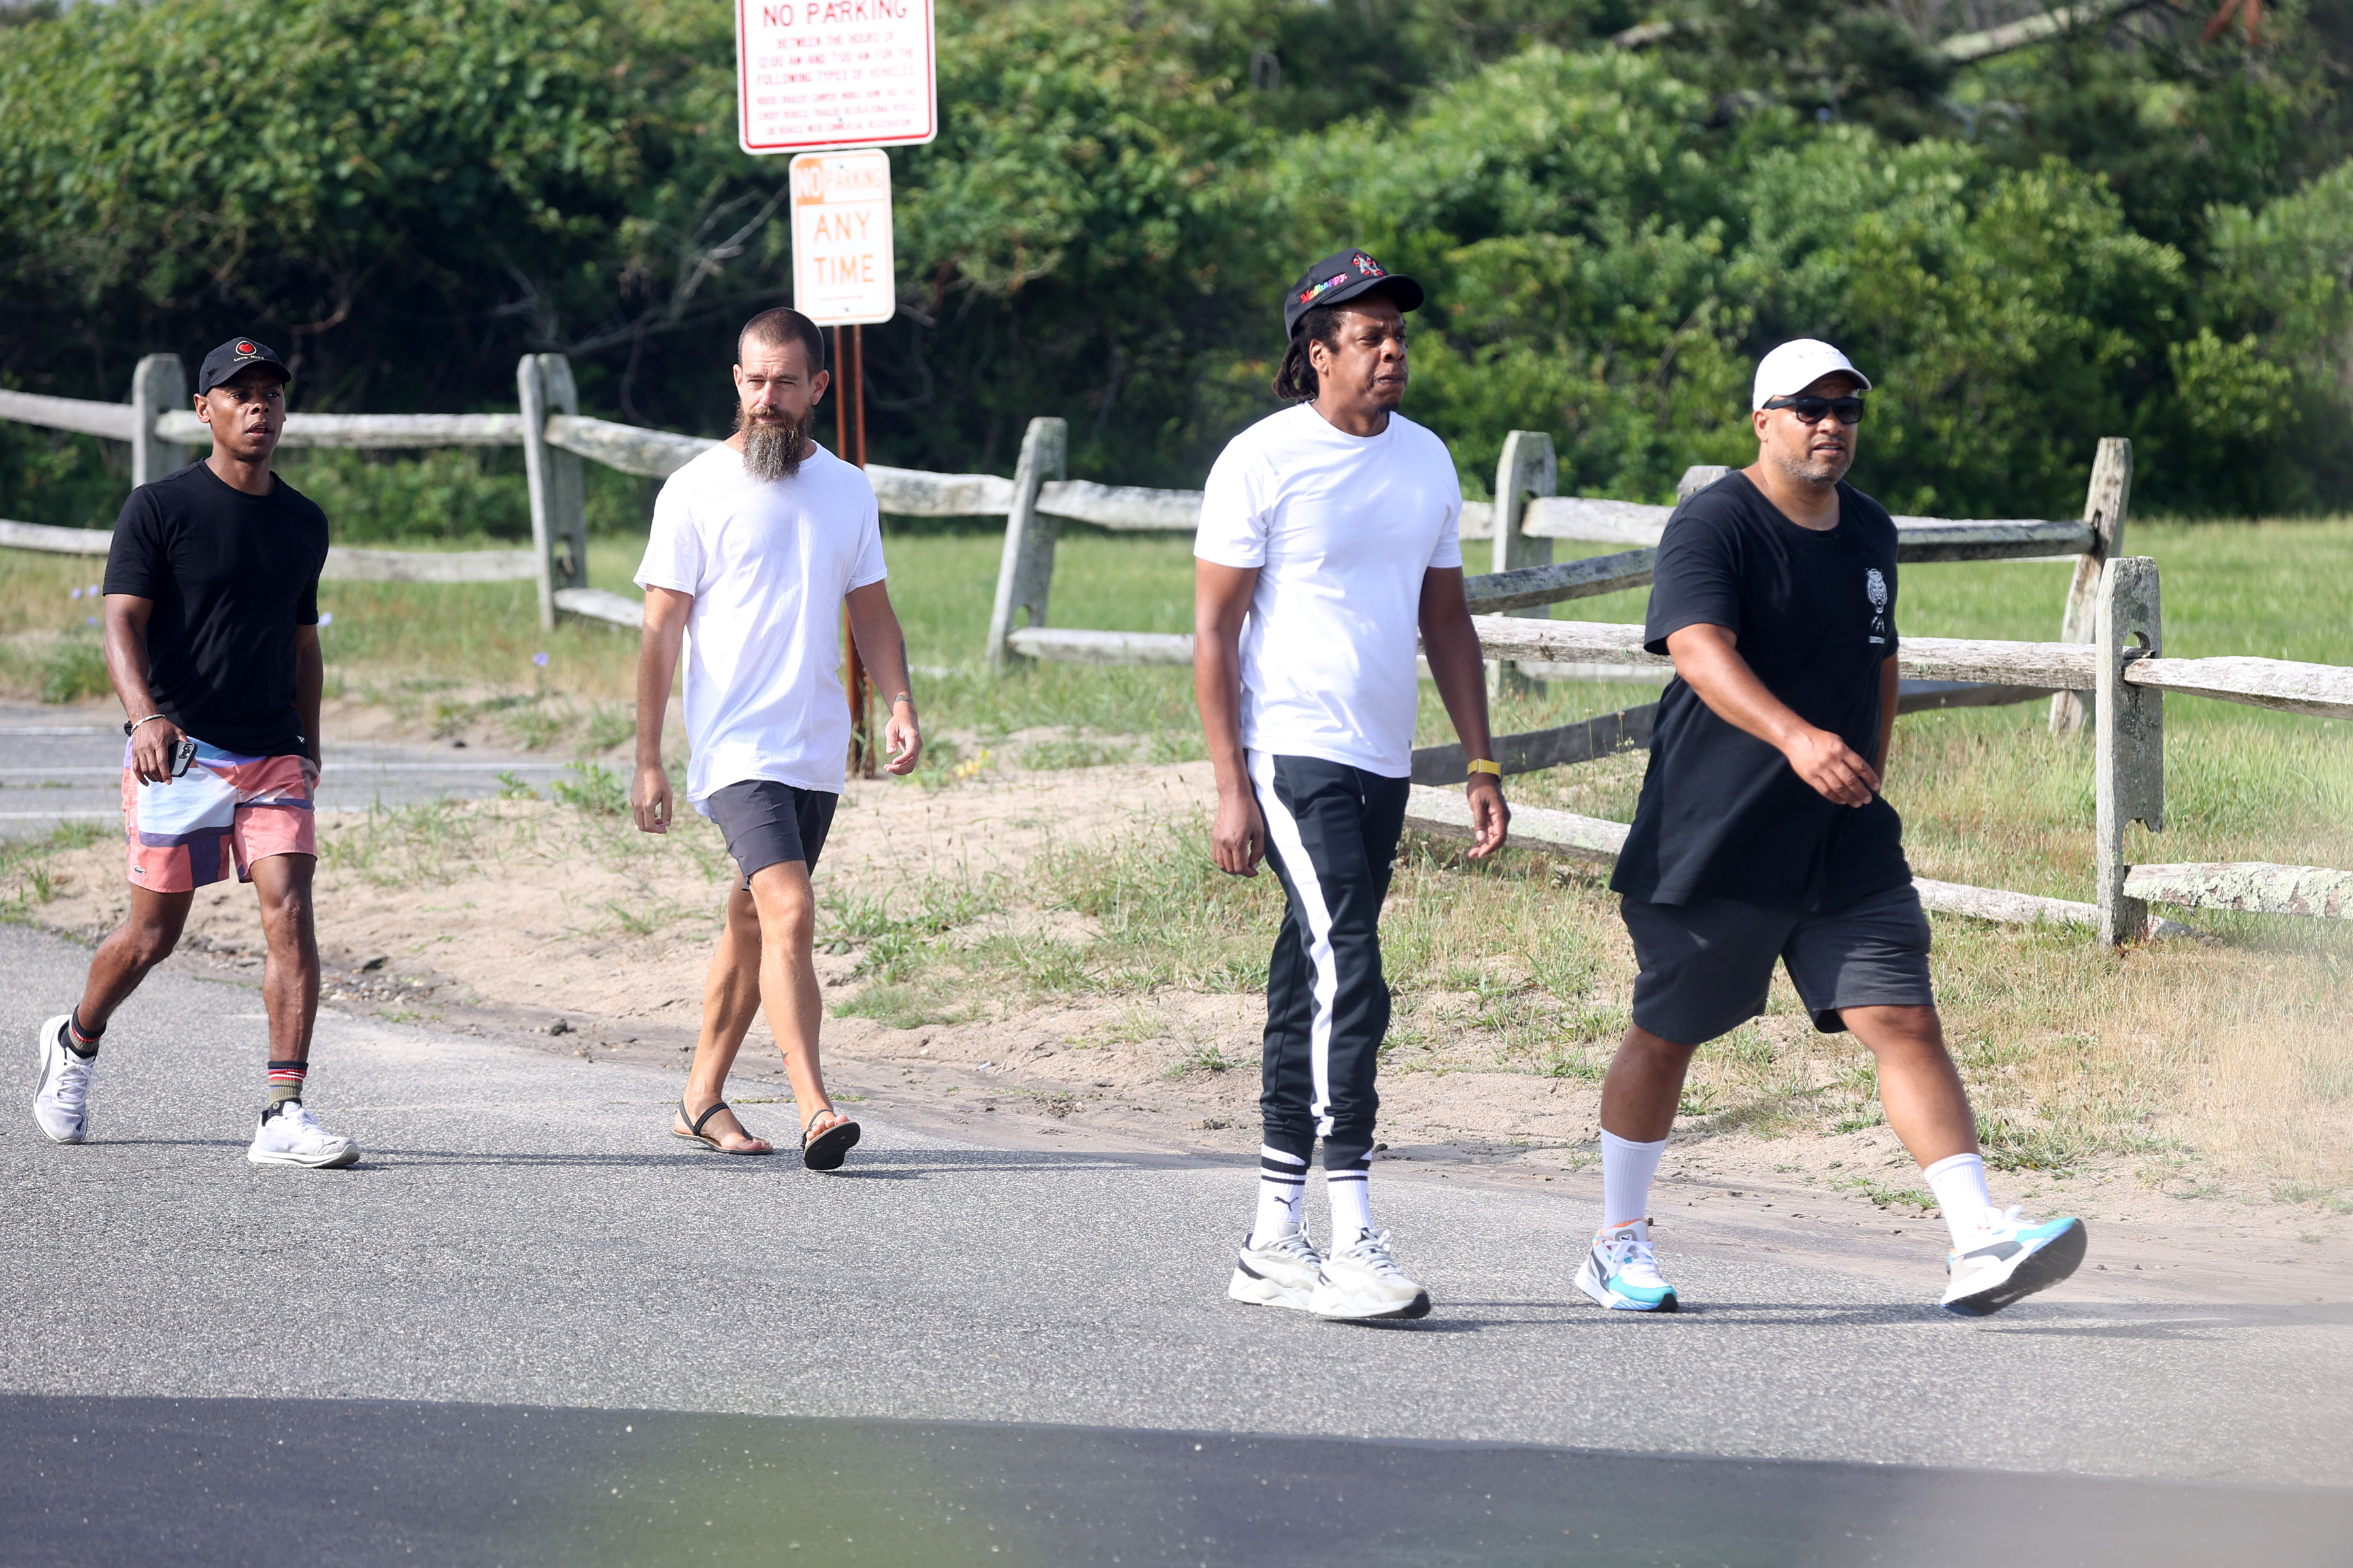
<svg viewBox="0 0 2353 1568"><path fill-rule="evenodd" d="M1259 1215L1226 1295L1327 1319L1426 1316L1372 1222L1374 1067L1388 1032L1381 900L1405 830L1421 679L1471 762L1471 853L1506 823L1487 684L1464 604L1461 484L1445 442L1398 414L1421 284L1365 252L1318 261L1282 301L1289 348L1261 418L1209 470L1193 545L1193 693L1217 766L1217 867L1282 879L1266 971ZM1332 1241L1301 1225L1322 1138Z"/></svg>

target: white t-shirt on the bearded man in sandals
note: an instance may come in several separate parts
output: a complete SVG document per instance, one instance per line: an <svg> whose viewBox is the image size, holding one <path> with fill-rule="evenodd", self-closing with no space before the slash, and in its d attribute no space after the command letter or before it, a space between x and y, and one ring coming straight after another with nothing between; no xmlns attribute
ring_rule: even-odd
<svg viewBox="0 0 2353 1568"><path fill-rule="evenodd" d="M739 454L715 447L664 482L638 585L694 595L685 665L696 811L746 778L840 795L842 595L882 576L873 484L824 447L791 480L753 480Z"/></svg>

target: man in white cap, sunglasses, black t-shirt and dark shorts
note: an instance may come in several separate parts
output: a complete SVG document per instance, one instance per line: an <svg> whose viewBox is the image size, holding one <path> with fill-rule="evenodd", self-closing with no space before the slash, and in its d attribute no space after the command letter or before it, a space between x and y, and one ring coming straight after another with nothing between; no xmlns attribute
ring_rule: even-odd
<svg viewBox="0 0 2353 1568"><path fill-rule="evenodd" d="M1605 1307L1673 1312L1649 1182L1692 1053L1765 1011L1779 959L1814 1027L1878 1058L1887 1126L1953 1232L1944 1305L1984 1316L2082 1262L2082 1220L1993 1208L1929 987L1927 914L1880 795L1897 719L1897 527L1845 484L1864 378L1798 339L1758 364L1758 461L1659 541L1645 646L1671 654L1612 889L1640 976L1602 1081L1602 1227L1577 1272Z"/></svg>

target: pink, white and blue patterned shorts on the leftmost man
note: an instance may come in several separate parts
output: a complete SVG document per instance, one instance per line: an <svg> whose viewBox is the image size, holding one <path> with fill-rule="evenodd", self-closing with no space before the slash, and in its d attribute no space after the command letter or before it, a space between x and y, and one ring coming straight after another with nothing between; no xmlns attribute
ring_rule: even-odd
<svg viewBox="0 0 2353 1568"><path fill-rule="evenodd" d="M132 884L158 893L193 893L254 879L254 860L315 856L318 820L301 757L240 757L205 741L172 783L139 783L132 748L122 748L122 827L129 835Z"/></svg>

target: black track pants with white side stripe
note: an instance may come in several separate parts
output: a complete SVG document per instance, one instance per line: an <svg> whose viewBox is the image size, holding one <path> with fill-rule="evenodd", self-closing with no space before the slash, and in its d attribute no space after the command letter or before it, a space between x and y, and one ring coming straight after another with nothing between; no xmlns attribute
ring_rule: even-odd
<svg viewBox="0 0 2353 1568"><path fill-rule="evenodd" d="M1325 1171L1362 1166L1381 1107L1372 1074L1388 1032L1381 900L1405 832L1409 778L1320 757L1249 752L1266 860L1287 907L1266 966L1266 1145Z"/></svg>

